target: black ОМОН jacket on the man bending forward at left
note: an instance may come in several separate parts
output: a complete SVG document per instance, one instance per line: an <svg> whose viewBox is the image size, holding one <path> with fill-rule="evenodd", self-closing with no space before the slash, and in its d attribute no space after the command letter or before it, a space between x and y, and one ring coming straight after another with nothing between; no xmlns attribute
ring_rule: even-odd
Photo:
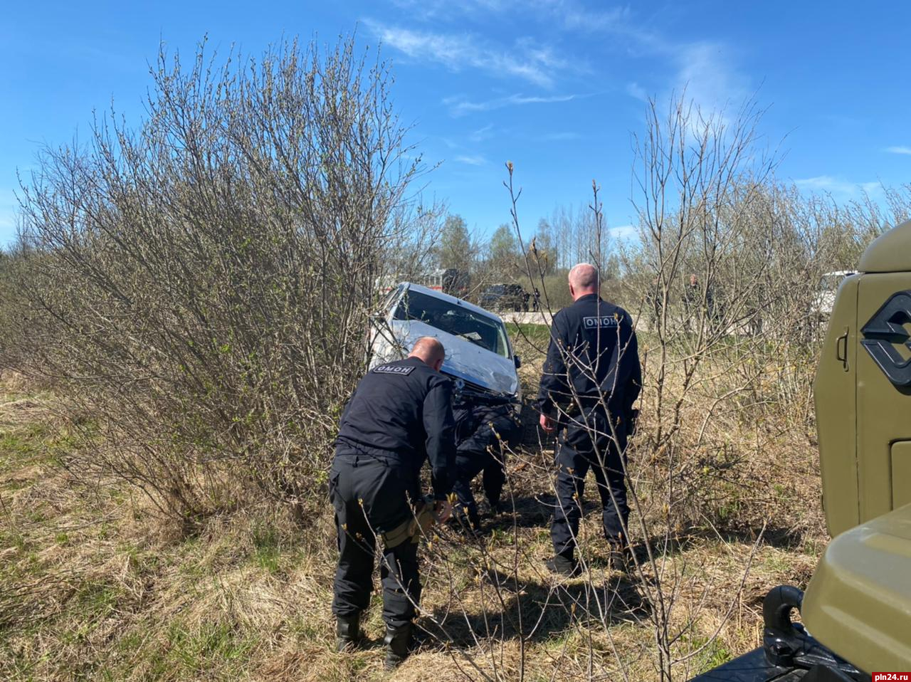
<svg viewBox="0 0 911 682"><path fill-rule="evenodd" d="M342 413L335 454L360 453L402 464L417 476L430 460L434 495L452 490L455 422L448 378L416 357L374 367Z"/></svg>

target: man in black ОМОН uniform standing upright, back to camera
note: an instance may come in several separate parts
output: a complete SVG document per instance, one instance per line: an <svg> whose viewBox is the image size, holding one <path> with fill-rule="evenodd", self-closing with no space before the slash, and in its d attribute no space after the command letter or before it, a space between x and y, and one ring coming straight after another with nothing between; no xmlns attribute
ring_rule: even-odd
<svg viewBox="0 0 911 682"><path fill-rule="evenodd" d="M554 315L541 376L538 407L545 431L561 429L557 449L557 510L550 529L554 558L548 568L572 575L589 468L601 498L610 563L622 568L630 510L625 481L632 404L642 374L629 313L599 296L598 271L579 263L569 271L573 305Z"/></svg>

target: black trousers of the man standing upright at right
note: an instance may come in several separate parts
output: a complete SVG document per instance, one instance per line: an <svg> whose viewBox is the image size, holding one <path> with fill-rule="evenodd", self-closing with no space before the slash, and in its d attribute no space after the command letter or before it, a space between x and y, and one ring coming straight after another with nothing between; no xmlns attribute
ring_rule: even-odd
<svg viewBox="0 0 911 682"><path fill-rule="evenodd" d="M585 477L589 469L595 474L601 498L604 536L609 541L619 541L630 517L625 474L626 441L625 425L615 423L611 431L607 412L600 407L576 415L560 432L557 447L557 509L550 527L554 553L568 554L576 548Z"/></svg>

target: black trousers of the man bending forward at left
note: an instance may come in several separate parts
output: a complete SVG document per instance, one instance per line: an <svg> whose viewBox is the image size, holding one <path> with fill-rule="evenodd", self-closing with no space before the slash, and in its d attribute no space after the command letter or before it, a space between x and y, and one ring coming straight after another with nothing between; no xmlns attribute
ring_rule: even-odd
<svg viewBox="0 0 911 682"><path fill-rule="evenodd" d="M410 501L418 499L419 491L414 473L400 462L363 454L335 455L329 475L339 547L334 615L358 614L370 604L377 536L413 518ZM384 547L380 578L386 625L397 628L410 623L421 598L417 543L406 540Z"/></svg>

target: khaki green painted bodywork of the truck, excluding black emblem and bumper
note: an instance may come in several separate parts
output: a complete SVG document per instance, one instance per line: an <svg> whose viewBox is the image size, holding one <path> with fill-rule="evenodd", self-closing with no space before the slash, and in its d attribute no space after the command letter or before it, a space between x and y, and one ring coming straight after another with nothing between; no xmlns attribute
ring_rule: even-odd
<svg viewBox="0 0 911 682"><path fill-rule="evenodd" d="M801 615L869 673L911 669L911 389L885 377L859 330L911 289L911 222L875 240L860 270L839 289L814 384L825 517L841 534Z"/></svg>

